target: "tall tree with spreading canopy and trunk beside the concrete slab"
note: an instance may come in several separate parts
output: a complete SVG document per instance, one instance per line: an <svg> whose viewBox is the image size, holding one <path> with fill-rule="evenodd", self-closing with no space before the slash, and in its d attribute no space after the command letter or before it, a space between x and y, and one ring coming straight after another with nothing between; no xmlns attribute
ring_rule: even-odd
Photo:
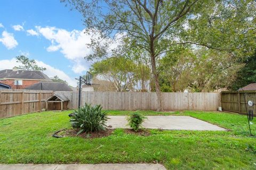
<svg viewBox="0 0 256 170"><path fill-rule="evenodd" d="M87 32L97 35L90 47L94 54L87 59L108 57L131 48L148 52L157 93L157 111L163 110L157 63L162 54L173 46L194 44L217 50L244 49L237 41L251 45L248 22L254 19L255 2L251 1L162 1L162 0L61 0L68 2L84 17ZM241 24L242 23L242 24ZM187 27L193 28L186 30ZM217 27L215 27L217 26ZM228 26L228 28L226 28ZM202 31L202 32L201 32ZM113 40L124 39L129 45L118 43L113 50ZM105 41L103 41L103 40ZM251 40L251 39L250 39ZM224 45L222 47L222 45ZM247 47L247 46L246 46ZM110 49L110 50L108 50Z"/></svg>

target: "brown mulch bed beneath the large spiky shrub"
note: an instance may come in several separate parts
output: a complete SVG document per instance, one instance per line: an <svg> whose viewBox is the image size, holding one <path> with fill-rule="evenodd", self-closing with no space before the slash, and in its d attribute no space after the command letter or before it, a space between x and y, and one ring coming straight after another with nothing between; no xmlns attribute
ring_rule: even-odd
<svg viewBox="0 0 256 170"><path fill-rule="evenodd" d="M80 133L77 135L77 132L79 130L77 129L66 129L66 130L61 130L57 133L54 133L58 137L82 137L82 138L87 138L87 139L92 139L92 138L102 138L102 137L107 137L108 135L111 135L114 129L106 129L105 131L98 131L98 132L91 132L91 133Z"/></svg>

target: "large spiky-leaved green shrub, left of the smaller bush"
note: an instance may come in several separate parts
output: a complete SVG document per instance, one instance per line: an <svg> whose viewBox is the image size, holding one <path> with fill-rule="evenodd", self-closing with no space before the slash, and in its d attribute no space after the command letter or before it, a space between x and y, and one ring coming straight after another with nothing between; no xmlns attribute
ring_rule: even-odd
<svg viewBox="0 0 256 170"><path fill-rule="evenodd" d="M100 105L91 106L85 103L84 107L78 108L71 115L72 127L80 129L77 134L105 130L108 117L107 112L102 112L101 109Z"/></svg>

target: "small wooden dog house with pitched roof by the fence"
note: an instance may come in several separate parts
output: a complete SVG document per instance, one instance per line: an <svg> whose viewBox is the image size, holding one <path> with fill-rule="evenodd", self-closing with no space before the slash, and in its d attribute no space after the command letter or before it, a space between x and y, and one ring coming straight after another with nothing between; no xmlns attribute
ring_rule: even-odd
<svg viewBox="0 0 256 170"><path fill-rule="evenodd" d="M54 94L45 100L46 111L64 111L68 109L69 99L65 95Z"/></svg>

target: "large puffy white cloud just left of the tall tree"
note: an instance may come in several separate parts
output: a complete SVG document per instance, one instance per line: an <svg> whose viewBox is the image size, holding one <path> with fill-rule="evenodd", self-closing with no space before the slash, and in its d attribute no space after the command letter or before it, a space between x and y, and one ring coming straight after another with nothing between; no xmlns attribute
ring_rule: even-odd
<svg viewBox="0 0 256 170"><path fill-rule="evenodd" d="M46 48L48 52L60 50L68 60L74 65L72 70L75 73L82 73L89 70L90 63L84 60L84 56L92 53L86 44L91 42L91 36L84 33L85 30L59 29L55 27L36 27L37 31L46 39L51 41L51 45Z"/></svg>

